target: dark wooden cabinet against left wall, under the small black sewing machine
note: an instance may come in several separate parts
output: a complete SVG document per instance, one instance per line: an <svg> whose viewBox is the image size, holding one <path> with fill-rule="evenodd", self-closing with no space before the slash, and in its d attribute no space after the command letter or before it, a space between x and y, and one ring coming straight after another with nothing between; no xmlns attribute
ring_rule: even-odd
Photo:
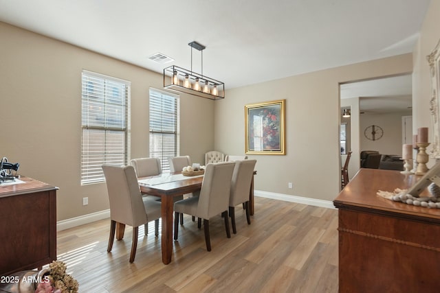
<svg viewBox="0 0 440 293"><path fill-rule="evenodd" d="M0 275L56 260L56 189L21 177L0 185Z"/></svg>

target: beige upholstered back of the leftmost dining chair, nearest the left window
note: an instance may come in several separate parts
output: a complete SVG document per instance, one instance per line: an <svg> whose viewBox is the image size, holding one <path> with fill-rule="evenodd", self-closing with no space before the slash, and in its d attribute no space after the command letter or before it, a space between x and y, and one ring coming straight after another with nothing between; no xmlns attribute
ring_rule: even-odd
<svg viewBox="0 0 440 293"><path fill-rule="evenodd" d="M147 222L133 166L102 165L110 202L110 218L133 227Z"/></svg>

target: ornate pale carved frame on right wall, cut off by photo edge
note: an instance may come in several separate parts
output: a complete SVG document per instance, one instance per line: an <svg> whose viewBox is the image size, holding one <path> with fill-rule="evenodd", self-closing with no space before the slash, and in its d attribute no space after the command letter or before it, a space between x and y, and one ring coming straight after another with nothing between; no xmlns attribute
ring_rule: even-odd
<svg viewBox="0 0 440 293"><path fill-rule="evenodd" d="M440 40L437 46L426 56L430 67L431 99L430 112L432 117L433 136L431 156L440 159Z"/></svg>

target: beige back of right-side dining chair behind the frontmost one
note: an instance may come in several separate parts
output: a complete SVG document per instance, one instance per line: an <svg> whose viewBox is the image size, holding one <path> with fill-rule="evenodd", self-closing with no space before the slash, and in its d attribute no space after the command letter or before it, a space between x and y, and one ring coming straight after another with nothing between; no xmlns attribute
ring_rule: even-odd
<svg viewBox="0 0 440 293"><path fill-rule="evenodd" d="M230 207L235 207L237 204L249 200L250 184L252 182L252 176L254 176L255 164L256 160L235 162L229 198Z"/></svg>

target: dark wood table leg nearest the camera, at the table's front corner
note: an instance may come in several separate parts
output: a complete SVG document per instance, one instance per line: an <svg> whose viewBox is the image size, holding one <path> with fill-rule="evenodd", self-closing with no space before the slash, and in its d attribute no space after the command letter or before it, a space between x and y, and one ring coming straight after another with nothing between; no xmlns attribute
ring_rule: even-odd
<svg viewBox="0 0 440 293"><path fill-rule="evenodd" d="M173 254L173 196L162 196L162 262L171 262Z"/></svg>

